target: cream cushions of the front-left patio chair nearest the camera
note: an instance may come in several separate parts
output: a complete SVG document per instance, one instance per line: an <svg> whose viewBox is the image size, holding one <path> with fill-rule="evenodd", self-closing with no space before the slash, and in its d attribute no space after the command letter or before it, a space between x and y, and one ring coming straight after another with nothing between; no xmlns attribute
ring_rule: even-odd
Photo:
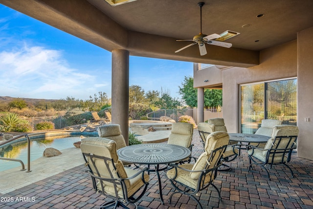
<svg viewBox="0 0 313 209"><path fill-rule="evenodd" d="M110 170L112 171L113 177L110 176L109 171L102 159L95 160L95 167L98 169L99 174L103 178L128 178L133 176L137 171L133 169L128 169L123 166L123 163L118 160L118 155L116 153L116 143L111 139L106 138L85 138L82 139L81 142L81 151L82 153L90 153L97 156L107 157L113 159L113 163L116 167L116 171L114 171L114 167L111 162L109 163ZM97 176L97 171L90 161L90 158L87 158L88 164L93 171L94 175ZM119 175L119 177L118 177ZM146 182L149 181L149 175L144 174L144 179ZM102 181L105 185L105 192L109 193L112 196L115 196L114 186L109 183ZM101 182L97 182L97 188L102 189ZM136 176L134 179L126 180L125 185L127 187L127 193L129 196L134 194L141 186L143 186L143 182L141 180L141 175ZM118 196L123 198L123 192L120 186L117 186Z"/></svg>

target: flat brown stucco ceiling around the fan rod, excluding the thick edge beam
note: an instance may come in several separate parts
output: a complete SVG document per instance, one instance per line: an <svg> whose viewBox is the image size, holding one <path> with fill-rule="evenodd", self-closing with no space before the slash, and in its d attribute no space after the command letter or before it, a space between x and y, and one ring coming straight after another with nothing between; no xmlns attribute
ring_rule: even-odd
<svg viewBox="0 0 313 209"><path fill-rule="evenodd" d="M199 1L136 0L113 7L105 0L89 0L128 30L176 39L199 34ZM298 31L313 26L313 0L202 1L202 33L239 32L227 40L236 48L262 50L295 40ZM259 14L264 17L257 18ZM247 24L251 26L243 27Z"/></svg>

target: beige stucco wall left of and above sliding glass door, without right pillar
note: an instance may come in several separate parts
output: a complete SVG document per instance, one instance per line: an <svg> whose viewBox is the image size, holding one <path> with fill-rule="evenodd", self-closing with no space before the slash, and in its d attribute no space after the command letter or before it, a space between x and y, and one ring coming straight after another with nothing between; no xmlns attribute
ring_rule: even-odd
<svg viewBox="0 0 313 209"><path fill-rule="evenodd" d="M229 132L239 132L240 84L297 76L296 41L261 51L260 65L223 70L223 117Z"/></svg>

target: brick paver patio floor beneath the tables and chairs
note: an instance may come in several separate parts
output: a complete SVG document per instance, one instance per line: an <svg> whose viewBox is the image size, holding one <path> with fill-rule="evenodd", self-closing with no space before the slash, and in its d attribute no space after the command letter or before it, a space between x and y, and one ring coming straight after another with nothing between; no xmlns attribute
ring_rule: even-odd
<svg viewBox="0 0 313 209"><path fill-rule="evenodd" d="M192 155L198 157L202 149L198 131L195 130ZM76 156L82 157L82 156ZM266 171L255 167L248 171L248 157L243 150L233 162L230 171L219 172L214 184L221 189L222 200L217 192L208 187L198 198L205 209L313 209L313 161L292 154L290 171L282 165L270 169L271 181ZM99 208L109 198L92 190L86 167L80 165L42 181L24 186L0 196L1 209L93 209ZM196 209L196 202L186 195L176 194L171 204L168 198L174 189L164 173L162 192L165 204L161 205L158 183L150 174L146 194L137 203L139 209ZM134 208L134 206L130 206Z"/></svg>

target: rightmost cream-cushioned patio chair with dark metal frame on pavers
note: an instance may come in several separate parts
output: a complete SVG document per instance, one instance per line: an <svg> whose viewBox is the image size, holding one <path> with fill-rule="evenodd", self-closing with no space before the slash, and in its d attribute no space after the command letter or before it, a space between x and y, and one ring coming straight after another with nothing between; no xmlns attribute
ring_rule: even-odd
<svg viewBox="0 0 313 209"><path fill-rule="evenodd" d="M266 166L270 165L271 168L272 165L283 164L289 168L293 177L291 167L286 163L289 163L291 160L291 153L295 148L298 133L299 129L297 126L278 125L274 126L271 139L268 139L264 149L249 145L249 171L252 165L259 165L266 170L268 180L270 180Z"/></svg>

